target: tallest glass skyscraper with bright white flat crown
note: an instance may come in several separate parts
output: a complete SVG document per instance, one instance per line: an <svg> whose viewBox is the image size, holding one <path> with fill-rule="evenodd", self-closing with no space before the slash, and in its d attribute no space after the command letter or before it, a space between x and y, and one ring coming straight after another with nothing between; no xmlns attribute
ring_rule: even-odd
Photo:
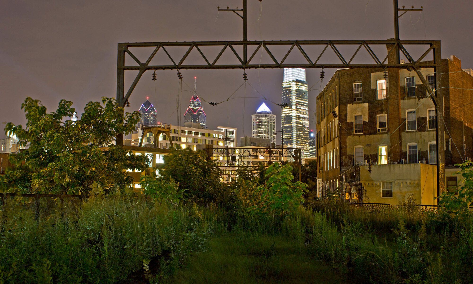
<svg viewBox="0 0 473 284"><path fill-rule="evenodd" d="M284 68L281 101L287 104L281 110L283 143L289 148L301 149L302 157L308 158L309 102L304 68Z"/></svg>

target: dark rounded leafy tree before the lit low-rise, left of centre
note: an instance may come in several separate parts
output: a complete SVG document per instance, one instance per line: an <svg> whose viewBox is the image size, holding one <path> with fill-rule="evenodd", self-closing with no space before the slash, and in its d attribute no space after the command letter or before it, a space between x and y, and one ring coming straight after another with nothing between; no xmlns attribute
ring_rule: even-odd
<svg viewBox="0 0 473 284"><path fill-rule="evenodd" d="M179 189L186 189L189 199L194 202L214 200L215 193L221 187L221 169L211 160L207 153L199 150L171 149L164 156L164 166L159 169L159 175L164 181L179 183Z"/></svg>

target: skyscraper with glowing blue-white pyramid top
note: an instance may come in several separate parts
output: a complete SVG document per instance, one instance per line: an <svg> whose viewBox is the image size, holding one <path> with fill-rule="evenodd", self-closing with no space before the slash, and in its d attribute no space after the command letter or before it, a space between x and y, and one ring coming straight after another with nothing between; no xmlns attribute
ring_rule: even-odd
<svg viewBox="0 0 473 284"><path fill-rule="evenodd" d="M255 115L251 115L251 136L269 139L271 143L276 143L276 115L271 114L271 110L263 103Z"/></svg>

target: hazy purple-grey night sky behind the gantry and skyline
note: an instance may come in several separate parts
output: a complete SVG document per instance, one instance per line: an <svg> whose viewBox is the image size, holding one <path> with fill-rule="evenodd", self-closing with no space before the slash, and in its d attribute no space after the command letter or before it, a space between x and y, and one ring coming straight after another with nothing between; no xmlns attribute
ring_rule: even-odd
<svg viewBox="0 0 473 284"><path fill-rule="evenodd" d="M462 68L473 68L473 1L399 0L399 6L403 5L415 8L423 5L424 10L408 12L400 19L401 39L441 40L442 58L455 55L462 60ZM217 6L242 8L242 1L1 1L1 128L10 121L25 123L20 107L28 96L41 100L49 111L56 109L60 99L71 100L79 117L87 102L98 101L102 96L115 98L116 44L119 42L241 40L242 20L231 12L218 13ZM392 37L391 0L263 0L261 3L248 0L249 40L384 40ZM412 53L421 54L423 50ZM269 57L260 54L252 63L269 62ZM324 60L338 63L331 55ZM315 85L309 92L310 128L315 128L315 98L318 89L323 88L320 71L307 70L309 88ZM335 70L324 71L326 83ZM246 73L248 83L264 97L280 103L282 70L246 70ZM125 89L134 74L125 72ZM138 110L149 97L158 110L159 121L177 124L176 71L157 71L157 74L156 81L151 80L152 71L143 75L129 100L131 107L125 110ZM243 70L184 70L183 89L193 90L196 76L198 94L207 101L219 102L226 100L243 83L242 74ZM246 99L242 98L245 96ZM191 97L192 92L182 93L182 115ZM244 86L240 88L233 98L236 99L216 107L202 102L207 124L210 129L217 125L237 127L238 137L251 136L251 114L264 99L249 86L246 90ZM280 107L271 102L266 104L277 115L276 128L280 130ZM2 131L0 138L4 137Z"/></svg>

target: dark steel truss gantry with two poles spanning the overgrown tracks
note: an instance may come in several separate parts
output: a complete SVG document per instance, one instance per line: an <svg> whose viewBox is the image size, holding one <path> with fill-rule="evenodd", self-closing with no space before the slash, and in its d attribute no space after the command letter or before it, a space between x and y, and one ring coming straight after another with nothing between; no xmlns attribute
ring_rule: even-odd
<svg viewBox="0 0 473 284"><path fill-rule="evenodd" d="M117 50L117 96L116 100L118 105L124 107L128 98L130 98L133 89L139 82L141 76L145 71L149 70L188 70L188 69L266 69L266 68L395 68L395 69L407 69L409 71L415 71L419 76L420 80L424 84L429 94L432 94L434 105L436 106L437 112L437 161L438 161L438 193L445 191L445 157L444 157L444 128L443 128L443 99L441 91L438 87L441 73L441 52L440 52L440 41L438 40L400 40L399 39L399 27L398 19L407 11L419 11L421 9L402 9L398 8L397 0L393 0L394 3L394 39L389 40L272 40L272 41L251 41L246 38L246 0L243 0L243 9L219 9L219 11L230 11L236 13L240 18L243 19L243 40L242 41L199 41L199 42L143 42L143 43L119 43ZM243 16L238 12L243 12ZM405 11L399 16L399 11ZM320 53L312 54L306 51L304 48L309 45L322 45L324 49ZM340 46L343 45L354 45L357 49L351 54L350 59L348 56L343 56L340 52ZM390 52L386 55L382 55L379 51L374 51L374 46L386 46L392 45ZM426 51L417 58L412 57L408 52L407 48L411 45L424 45L427 46ZM172 56L170 50L175 47L187 47L187 51L183 56ZM205 55L201 48L214 46L219 48L219 53L216 56L210 57ZM248 47L254 46L253 52L248 53ZM281 59L276 59L276 56L271 51L272 47L275 46L287 46L287 52ZM135 54L133 54L130 48L140 47L154 47L154 50L149 54L148 59L141 62ZM242 48L240 48L242 47ZM197 50L200 54L201 59L205 64L194 65L186 64L185 61L189 54ZM219 64L219 59L226 50L230 50L234 54L235 64ZM242 49L242 51L240 51ZM254 60L254 57L258 51L262 49L272 60L269 64L259 64ZM359 54L359 51L365 49L370 55L366 63L353 63L353 59ZM168 65L150 65L150 62L155 58L158 51L162 50L166 56L166 60L170 60L172 64ZM376 50L376 49L375 49ZM302 55L305 61L304 63L287 62L287 58L291 52L298 52ZM407 58L408 62L403 64L400 63L399 54ZM321 63L320 59L325 53L334 53L338 58L337 62L333 63ZM388 57L394 53L395 62L388 62ZM433 61L422 60L429 54L433 53ZM128 54L134 61L131 65L125 65L125 54ZM248 57L248 55L250 55ZM434 90L430 89L427 80L420 71L420 68L434 68L435 86ZM135 79L131 83L131 86L125 93L124 78L125 71L139 71ZM123 144L123 134L117 135L116 143Z"/></svg>

